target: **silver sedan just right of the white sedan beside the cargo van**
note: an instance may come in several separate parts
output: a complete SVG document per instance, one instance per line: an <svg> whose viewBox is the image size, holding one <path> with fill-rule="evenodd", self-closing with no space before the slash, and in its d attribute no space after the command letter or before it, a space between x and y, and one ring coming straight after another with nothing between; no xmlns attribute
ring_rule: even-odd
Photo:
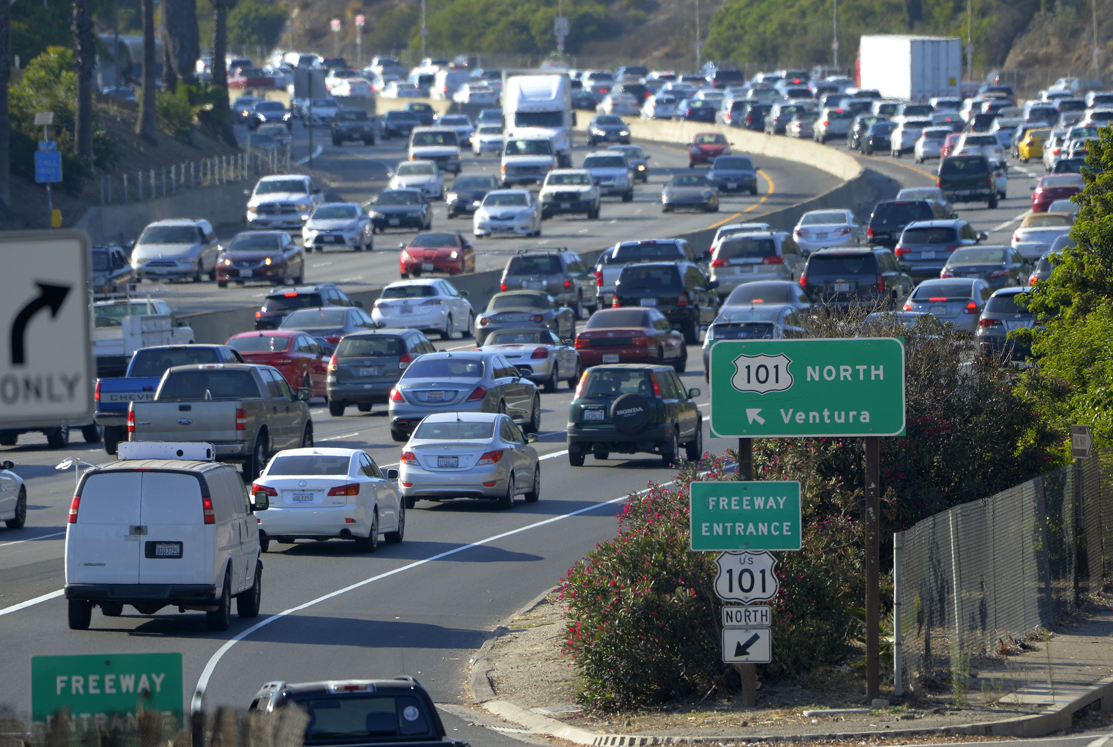
<svg viewBox="0 0 1113 747"><path fill-rule="evenodd" d="M407 509L418 500L481 498L500 509L541 498L541 464L525 435L502 413L442 412L421 422L402 450L398 484Z"/></svg>

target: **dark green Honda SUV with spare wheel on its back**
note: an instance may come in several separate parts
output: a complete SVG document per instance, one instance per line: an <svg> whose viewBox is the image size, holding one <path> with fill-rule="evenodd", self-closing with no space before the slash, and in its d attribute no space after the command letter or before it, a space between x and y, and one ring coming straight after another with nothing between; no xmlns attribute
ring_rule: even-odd
<svg viewBox="0 0 1113 747"><path fill-rule="evenodd" d="M580 380L568 411L568 462L583 466L589 452L660 454L666 466L680 445L689 461L703 453L703 415L698 389L686 390L667 365L618 363L592 366Z"/></svg>

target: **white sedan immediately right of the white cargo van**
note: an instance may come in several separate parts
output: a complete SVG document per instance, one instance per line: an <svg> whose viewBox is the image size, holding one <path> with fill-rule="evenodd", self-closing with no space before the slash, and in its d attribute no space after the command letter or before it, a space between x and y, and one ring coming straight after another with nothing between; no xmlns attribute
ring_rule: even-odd
<svg viewBox="0 0 1113 747"><path fill-rule="evenodd" d="M406 530L396 470L384 474L358 449L286 449L255 479L256 504L264 499L259 547L270 541L354 540L357 552L374 552L380 534L401 542Z"/></svg>

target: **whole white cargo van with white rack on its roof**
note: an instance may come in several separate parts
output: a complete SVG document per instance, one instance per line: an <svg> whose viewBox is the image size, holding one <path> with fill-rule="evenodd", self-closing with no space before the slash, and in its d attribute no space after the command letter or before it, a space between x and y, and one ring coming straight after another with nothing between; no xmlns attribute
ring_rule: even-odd
<svg viewBox="0 0 1113 747"><path fill-rule="evenodd" d="M69 627L87 630L92 608L117 617L164 607L203 610L227 630L232 598L259 613L258 522L236 469L208 443L124 442L118 460L81 476L66 527Z"/></svg>

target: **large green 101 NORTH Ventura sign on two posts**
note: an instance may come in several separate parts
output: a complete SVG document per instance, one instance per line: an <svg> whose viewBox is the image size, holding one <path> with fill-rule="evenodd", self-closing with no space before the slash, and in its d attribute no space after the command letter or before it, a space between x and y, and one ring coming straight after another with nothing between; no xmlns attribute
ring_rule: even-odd
<svg viewBox="0 0 1113 747"><path fill-rule="evenodd" d="M711 435L902 435L904 341L723 340L711 345Z"/></svg>

